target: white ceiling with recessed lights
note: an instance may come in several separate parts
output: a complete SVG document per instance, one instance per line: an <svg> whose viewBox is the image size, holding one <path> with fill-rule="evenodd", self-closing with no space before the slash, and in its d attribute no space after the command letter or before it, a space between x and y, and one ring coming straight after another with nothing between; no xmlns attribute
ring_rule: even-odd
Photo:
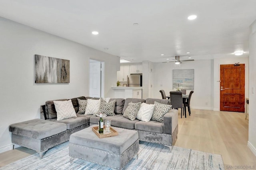
<svg viewBox="0 0 256 170"><path fill-rule="evenodd" d="M256 0L0 0L0 16L131 62L202 60L249 55Z"/></svg>

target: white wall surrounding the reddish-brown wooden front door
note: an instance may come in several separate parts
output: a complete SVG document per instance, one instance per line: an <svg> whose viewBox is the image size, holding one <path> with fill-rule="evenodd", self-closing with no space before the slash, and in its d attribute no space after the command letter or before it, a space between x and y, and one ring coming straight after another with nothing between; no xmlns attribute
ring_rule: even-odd
<svg viewBox="0 0 256 170"><path fill-rule="evenodd" d="M245 97L248 98L248 87L249 87L249 58L238 57L233 58L216 58L214 59L214 110L220 110L220 65L221 64L245 64Z"/></svg>

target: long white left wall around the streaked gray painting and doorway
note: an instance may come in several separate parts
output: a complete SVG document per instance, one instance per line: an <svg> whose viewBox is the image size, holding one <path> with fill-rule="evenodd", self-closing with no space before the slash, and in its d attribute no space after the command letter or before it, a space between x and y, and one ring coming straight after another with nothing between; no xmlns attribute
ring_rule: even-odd
<svg viewBox="0 0 256 170"><path fill-rule="evenodd" d="M46 100L89 95L89 59L105 62L104 96L114 97L119 57L0 18L0 152L10 150L10 124L40 118ZM69 84L35 84L34 55L70 60Z"/></svg>

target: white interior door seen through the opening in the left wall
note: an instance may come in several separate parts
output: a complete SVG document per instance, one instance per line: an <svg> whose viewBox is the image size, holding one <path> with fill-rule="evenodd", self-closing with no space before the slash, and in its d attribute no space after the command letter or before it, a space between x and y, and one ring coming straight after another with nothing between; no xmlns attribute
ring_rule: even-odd
<svg viewBox="0 0 256 170"><path fill-rule="evenodd" d="M101 62L96 60L90 60L90 97L101 97L101 79Z"/></svg>

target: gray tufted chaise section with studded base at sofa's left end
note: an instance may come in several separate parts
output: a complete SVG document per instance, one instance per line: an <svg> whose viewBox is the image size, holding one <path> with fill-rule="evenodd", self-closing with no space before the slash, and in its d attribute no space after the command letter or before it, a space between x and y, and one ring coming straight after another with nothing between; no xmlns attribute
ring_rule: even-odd
<svg viewBox="0 0 256 170"><path fill-rule="evenodd" d="M25 122L11 124L12 143L35 150L40 154L49 148L66 142L65 131L67 125L59 122L51 122L43 119L33 119Z"/></svg>

